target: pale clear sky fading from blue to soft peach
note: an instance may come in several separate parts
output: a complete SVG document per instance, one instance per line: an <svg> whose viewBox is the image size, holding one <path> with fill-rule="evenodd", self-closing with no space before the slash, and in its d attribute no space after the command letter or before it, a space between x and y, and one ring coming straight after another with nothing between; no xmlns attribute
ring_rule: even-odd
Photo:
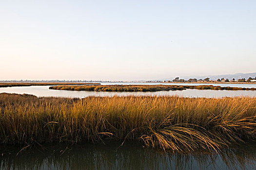
<svg viewBox="0 0 256 170"><path fill-rule="evenodd" d="M0 0L0 80L256 72L256 0Z"/></svg>

